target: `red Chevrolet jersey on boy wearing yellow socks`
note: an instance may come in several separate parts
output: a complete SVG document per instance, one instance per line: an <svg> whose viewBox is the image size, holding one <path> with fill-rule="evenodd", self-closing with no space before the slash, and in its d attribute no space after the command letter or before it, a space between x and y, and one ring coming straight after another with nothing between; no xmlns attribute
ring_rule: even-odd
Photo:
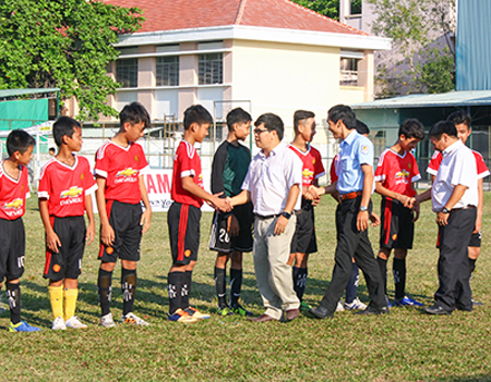
<svg viewBox="0 0 491 382"><path fill-rule="evenodd" d="M73 167L52 157L41 169L37 196L48 199L51 217L82 217L85 196L97 189L88 160L76 155L73 157Z"/></svg>

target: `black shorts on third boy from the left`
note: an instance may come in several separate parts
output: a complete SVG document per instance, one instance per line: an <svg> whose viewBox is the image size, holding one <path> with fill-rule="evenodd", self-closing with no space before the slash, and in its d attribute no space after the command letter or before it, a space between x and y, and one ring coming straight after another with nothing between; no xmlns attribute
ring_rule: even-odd
<svg viewBox="0 0 491 382"><path fill-rule="evenodd" d="M109 224L115 230L112 246L106 247L100 243L99 260L116 262L118 258L129 261L140 260L140 242L142 239L142 206L129 205L117 200L107 200L107 215Z"/></svg>

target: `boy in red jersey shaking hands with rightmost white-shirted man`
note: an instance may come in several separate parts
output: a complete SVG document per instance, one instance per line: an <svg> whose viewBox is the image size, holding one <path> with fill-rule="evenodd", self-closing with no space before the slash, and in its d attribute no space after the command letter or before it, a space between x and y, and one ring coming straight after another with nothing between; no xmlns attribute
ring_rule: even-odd
<svg viewBox="0 0 491 382"><path fill-rule="evenodd" d="M421 303L406 296L405 289L406 256L407 250L412 248L415 221L419 214L419 207L415 206L417 193L414 183L421 178L418 163L410 151L424 138L424 127L418 120L406 120L400 125L398 134L397 143L380 156L375 170L375 192L382 196L382 225L376 262L387 295L387 260L394 248L394 305L422 306Z"/></svg>

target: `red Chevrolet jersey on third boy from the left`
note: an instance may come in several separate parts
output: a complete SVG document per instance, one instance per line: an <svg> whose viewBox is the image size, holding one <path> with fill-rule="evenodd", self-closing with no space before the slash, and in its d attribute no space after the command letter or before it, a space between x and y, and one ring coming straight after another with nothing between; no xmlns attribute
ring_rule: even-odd
<svg viewBox="0 0 491 382"><path fill-rule="evenodd" d="M96 155L95 173L106 178L106 200L136 205L142 200L139 176L149 170L142 146L106 140Z"/></svg>

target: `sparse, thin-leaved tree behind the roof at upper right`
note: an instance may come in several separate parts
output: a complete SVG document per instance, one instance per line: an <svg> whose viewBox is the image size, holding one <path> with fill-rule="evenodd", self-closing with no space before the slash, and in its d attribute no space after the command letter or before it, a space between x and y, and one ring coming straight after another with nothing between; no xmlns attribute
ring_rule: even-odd
<svg viewBox="0 0 491 382"><path fill-rule="evenodd" d="M452 90L455 72L453 29L454 0L368 0L376 15L372 33L392 38L392 58L380 53L379 96L423 90ZM394 54L394 51L398 54ZM445 81L434 77L442 70ZM424 75L423 75L424 73ZM440 83L434 86L435 81ZM436 90L438 89L438 90Z"/></svg>

